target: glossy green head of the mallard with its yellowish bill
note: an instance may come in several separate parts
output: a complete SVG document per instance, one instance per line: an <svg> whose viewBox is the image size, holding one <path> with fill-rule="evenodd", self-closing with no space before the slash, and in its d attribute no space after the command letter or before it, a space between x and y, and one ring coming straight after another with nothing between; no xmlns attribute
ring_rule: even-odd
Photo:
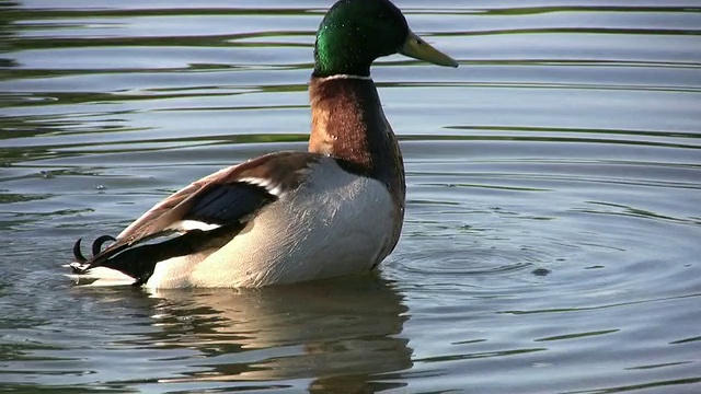
<svg viewBox="0 0 701 394"><path fill-rule="evenodd" d="M389 0L341 0L317 32L314 76L370 74L381 56L403 54L440 66L458 63L418 38Z"/></svg>

